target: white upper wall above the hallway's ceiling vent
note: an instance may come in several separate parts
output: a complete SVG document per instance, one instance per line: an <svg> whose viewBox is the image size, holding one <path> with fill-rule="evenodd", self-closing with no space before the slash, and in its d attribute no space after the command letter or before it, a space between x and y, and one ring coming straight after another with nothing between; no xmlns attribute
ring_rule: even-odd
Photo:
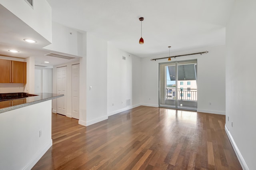
<svg viewBox="0 0 256 170"><path fill-rule="evenodd" d="M82 34L56 22L52 22L52 43L44 47L52 51L81 55Z"/></svg>

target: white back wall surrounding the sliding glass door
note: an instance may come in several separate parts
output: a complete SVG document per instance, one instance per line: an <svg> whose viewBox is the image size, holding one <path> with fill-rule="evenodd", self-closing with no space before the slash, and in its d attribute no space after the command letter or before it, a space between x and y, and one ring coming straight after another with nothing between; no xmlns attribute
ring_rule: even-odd
<svg viewBox="0 0 256 170"><path fill-rule="evenodd" d="M225 46L180 51L171 55L181 55L209 51L207 54L188 55L172 58L172 61L197 59L198 62L198 111L205 113L225 114ZM168 54L162 57L167 57ZM157 58L157 57L156 57ZM158 63L167 59L150 61L142 58L142 105L158 107ZM211 103L211 105L209 105Z"/></svg>

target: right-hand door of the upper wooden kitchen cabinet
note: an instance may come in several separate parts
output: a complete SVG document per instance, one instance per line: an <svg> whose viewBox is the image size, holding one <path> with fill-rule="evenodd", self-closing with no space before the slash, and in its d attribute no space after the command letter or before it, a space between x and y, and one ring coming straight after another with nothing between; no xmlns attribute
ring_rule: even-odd
<svg viewBox="0 0 256 170"><path fill-rule="evenodd" d="M12 61L12 83L24 83L24 62Z"/></svg>

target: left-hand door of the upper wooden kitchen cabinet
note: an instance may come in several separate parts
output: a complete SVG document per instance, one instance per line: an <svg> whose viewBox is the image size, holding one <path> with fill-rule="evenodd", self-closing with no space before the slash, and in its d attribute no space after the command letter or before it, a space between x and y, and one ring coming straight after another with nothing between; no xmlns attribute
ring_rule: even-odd
<svg viewBox="0 0 256 170"><path fill-rule="evenodd" d="M0 83L11 83L11 61L0 59Z"/></svg>

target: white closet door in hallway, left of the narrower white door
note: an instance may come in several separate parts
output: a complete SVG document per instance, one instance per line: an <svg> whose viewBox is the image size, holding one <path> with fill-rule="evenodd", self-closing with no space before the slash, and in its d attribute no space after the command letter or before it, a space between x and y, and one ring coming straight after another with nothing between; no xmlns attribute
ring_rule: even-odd
<svg viewBox="0 0 256 170"><path fill-rule="evenodd" d="M57 113L66 115L67 101L67 67L58 67L57 69L57 93L64 94L64 97L57 98Z"/></svg>

